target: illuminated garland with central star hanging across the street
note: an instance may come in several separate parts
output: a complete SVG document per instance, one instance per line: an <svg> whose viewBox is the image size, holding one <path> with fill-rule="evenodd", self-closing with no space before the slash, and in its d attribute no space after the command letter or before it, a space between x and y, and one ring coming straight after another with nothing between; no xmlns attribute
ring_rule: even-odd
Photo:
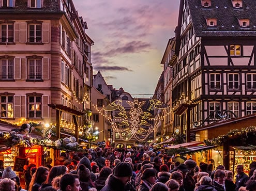
<svg viewBox="0 0 256 191"><path fill-rule="evenodd" d="M119 134L119 137L125 141L128 141L131 138L135 138L138 141L145 140L150 133L156 130L159 122L163 119L164 114L163 111L160 115L153 117L149 112L154 109L165 110L168 108L168 106L164 105L159 100L149 100L150 106L145 112L142 110L142 106L145 104L145 101L139 102L139 100L135 98L133 101L126 101L126 103L130 106L129 112L127 112L125 107L122 105L122 100L116 100L108 106L103 107L105 112L117 111L116 115L114 115L114 119L112 119L111 116L106 118L111 123L113 130L116 131ZM150 119L156 120L154 126L148 123L148 120ZM118 123L117 121L121 122ZM125 125L126 128L118 127L123 125Z"/></svg>

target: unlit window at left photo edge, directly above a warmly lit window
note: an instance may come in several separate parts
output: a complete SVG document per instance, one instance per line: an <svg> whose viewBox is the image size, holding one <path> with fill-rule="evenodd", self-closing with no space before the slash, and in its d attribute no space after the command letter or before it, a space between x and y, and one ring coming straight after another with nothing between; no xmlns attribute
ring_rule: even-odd
<svg viewBox="0 0 256 191"><path fill-rule="evenodd" d="M13 79L13 59L1 59L1 79Z"/></svg>

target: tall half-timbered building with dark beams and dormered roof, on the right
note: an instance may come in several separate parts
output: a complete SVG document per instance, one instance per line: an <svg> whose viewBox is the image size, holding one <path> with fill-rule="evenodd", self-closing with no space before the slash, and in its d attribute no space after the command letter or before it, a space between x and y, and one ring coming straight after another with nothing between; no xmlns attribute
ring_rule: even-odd
<svg viewBox="0 0 256 191"><path fill-rule="evenodd" d="M255 8L254 0L180 0L169 65L174 129L187 141L215 118L256 112Z"/></svg>

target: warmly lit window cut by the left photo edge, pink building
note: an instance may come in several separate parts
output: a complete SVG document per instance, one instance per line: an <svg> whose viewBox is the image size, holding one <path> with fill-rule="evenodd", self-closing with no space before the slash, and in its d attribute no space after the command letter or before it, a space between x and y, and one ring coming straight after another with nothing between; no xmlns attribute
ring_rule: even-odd
<svg viewBox="0 0 256 191"><path fill-rule="evenodd" d="M1 118L13 118L13 96L1 96Z"/></svg>

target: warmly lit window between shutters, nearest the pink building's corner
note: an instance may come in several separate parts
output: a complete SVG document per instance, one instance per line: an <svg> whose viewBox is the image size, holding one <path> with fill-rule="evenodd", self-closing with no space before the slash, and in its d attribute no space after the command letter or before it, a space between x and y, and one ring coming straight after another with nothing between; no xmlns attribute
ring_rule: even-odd
<svg viewBox="0 0 256 191"><path fill-rule="evenodd" d="M31 95L28 97L28 117L41 118L41 96Z"/></svg>

